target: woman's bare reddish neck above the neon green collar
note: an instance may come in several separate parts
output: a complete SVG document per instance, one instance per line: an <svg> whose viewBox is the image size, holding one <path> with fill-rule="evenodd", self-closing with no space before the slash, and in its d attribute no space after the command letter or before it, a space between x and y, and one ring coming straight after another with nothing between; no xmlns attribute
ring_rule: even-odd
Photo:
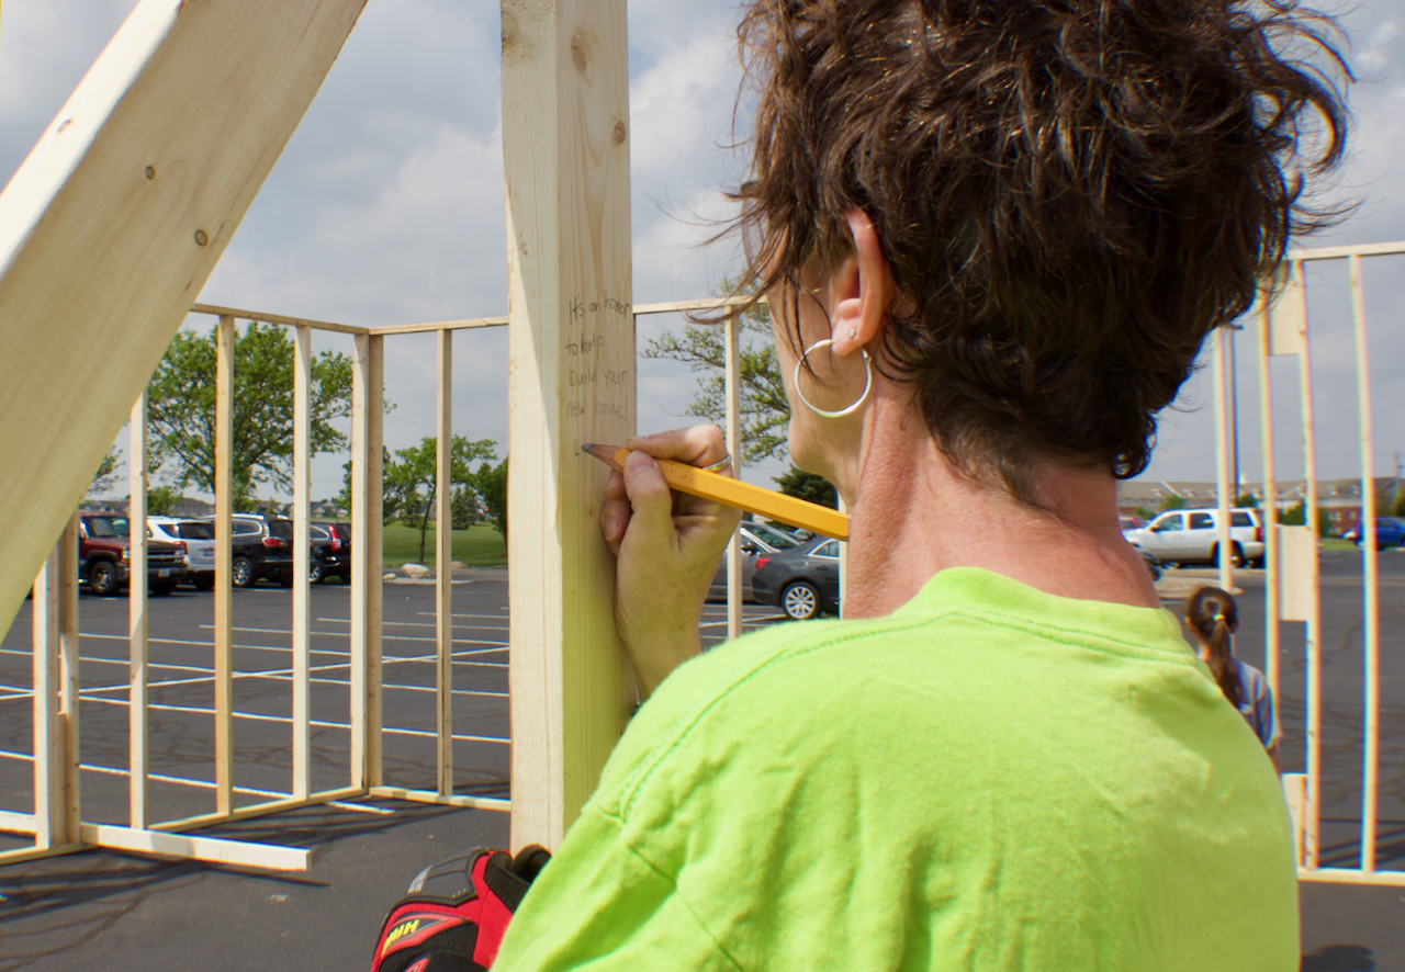
<svg viewBox="0 0 1405 972"><path fill-rule="evenodd" d="M880 414L858 455L835 471L850 515L844 617L908 603L936 573L984 567L1058 597L1159 607L1141 556L1121 535L1109 472L1045 466L1048 511L960 475L920 421ZM873 434L878 433L878 434Z"/></svg>

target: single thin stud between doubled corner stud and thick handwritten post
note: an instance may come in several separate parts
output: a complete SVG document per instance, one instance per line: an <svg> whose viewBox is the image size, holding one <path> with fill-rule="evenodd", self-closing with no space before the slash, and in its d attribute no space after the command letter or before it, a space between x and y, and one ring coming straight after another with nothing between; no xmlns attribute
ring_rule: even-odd
<svg viewBox="0 0 1405 972"><path fill-rule="evenodd" d="M434 633L438 792L454 792L454 331L438 331L438 421L434 469Z"/></svg>

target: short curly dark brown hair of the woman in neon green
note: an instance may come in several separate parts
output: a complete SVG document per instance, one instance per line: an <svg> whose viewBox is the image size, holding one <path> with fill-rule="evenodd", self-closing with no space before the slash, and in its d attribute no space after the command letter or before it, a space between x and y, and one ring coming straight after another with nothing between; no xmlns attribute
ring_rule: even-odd
<svg viewBox="0 0 1405 972"><path fill-rule="evenodd" d="M1293 0L753 0L738 37L743 287L833 265L865 212L916 306L887 374L1034 507L1038 461L1141 472L1205 336L1335 215L1304 188L1350 72Z"/></svg>

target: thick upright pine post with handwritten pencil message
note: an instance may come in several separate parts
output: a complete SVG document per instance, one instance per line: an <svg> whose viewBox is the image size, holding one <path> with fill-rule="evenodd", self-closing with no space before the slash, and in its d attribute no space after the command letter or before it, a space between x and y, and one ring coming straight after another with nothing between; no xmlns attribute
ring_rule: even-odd
<svg viewBox="0 0 1405 972"><path fill-rule="evenodd" d="M561 846L631 704L600 535L635 427L624 0L503 0L511 844Z"/></svg>

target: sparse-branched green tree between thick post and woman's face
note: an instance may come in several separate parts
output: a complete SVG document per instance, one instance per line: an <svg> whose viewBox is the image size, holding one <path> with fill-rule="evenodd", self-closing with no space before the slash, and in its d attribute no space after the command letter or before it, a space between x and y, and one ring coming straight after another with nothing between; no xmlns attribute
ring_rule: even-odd
<svg viewBox="0 0 1405 972"><path fill-rule="evenodd" d="M722 289L729 291L726 281ZM788 452L790 400L781 381L780 358L766 305L742 315L738 327L738 421L742 461L784 459ZM704 372L687 414L718 424L726 421L726 329L686 324L681 334L665 331L642 351L646 358L681 361Z"/></svg>

